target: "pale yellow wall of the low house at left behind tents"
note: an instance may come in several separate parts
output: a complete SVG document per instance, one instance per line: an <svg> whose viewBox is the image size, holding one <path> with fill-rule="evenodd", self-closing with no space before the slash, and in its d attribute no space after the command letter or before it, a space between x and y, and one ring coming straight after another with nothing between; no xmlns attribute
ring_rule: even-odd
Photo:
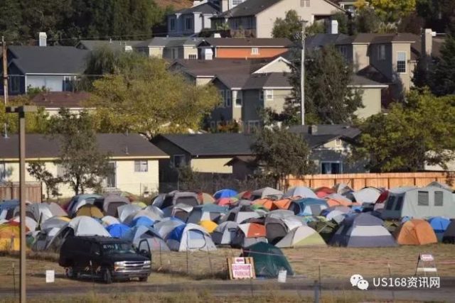
<svg viewBox="0 0 455 303"><path fill-rule="evenodd" d="M141 160L141 159L137 159ZM157 192L159 188L159 161L147 160L148 172L134 172L134 160L112 160L116 163L116 183L117 188L131 192L132 194L143 194L144 190ZM19 163L6 162L6 181L19 182ZM28 167L28 165L27 165ZM45 161L46 169L54 176L58 176L58 166L54 162ZM26 182L36 182L26 170ZM60 184L59 192L62 197L73 197L73 189L68 184ZM45 184L43 184L43 193L45 193ZM89 190L88 192L91 192Z"/></svg>

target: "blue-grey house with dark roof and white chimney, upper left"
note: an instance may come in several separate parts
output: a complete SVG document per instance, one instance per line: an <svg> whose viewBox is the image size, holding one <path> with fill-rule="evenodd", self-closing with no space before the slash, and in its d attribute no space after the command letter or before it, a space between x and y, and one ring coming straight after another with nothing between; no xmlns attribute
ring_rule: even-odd
<svg viewBox="0 0 455 303"><path fill-rule="evenodd" d="M29 88L73 92L77 76L86 66L89 50L72 46L20 46L8 48L9 94L26 94ZM3 68L1 68L3 72ZM0 94L3 93L3 86Z"/></svg>

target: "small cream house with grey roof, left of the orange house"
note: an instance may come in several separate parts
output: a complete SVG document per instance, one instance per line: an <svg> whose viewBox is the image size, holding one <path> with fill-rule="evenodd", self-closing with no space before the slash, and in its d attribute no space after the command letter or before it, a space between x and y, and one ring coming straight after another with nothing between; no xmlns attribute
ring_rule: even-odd
<svg viewBox="0 0 455 303"><path fill-rule="evenodd" d="M155 37L135 44L134 50L149 57L196 60L201 40L194 37Z"/></svg>

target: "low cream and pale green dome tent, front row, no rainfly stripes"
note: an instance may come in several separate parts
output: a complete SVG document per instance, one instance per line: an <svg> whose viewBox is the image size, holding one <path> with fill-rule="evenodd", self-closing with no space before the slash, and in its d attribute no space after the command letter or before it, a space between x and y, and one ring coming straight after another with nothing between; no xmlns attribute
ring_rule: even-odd
<svg viewBox="0 0 455 303"><path fill-rule="evenodd" d="M299 226L289 231L275 246L291 248L300 246L326 246L326 242L317 231L309 226Z"/></svg>

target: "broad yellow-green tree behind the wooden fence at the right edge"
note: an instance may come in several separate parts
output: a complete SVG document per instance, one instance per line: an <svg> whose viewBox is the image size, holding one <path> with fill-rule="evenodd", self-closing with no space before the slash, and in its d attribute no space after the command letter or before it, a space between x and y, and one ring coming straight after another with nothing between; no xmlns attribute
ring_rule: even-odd
<svg viewBox="0 0 455 303"><path fill-rule="evenodd" d="M360 125L354 155L370 158L370 170L412 172L425 162L446 167L455 157L455 97L413 90L406 100L394 104L387 115L370 116Z"/></svg>

